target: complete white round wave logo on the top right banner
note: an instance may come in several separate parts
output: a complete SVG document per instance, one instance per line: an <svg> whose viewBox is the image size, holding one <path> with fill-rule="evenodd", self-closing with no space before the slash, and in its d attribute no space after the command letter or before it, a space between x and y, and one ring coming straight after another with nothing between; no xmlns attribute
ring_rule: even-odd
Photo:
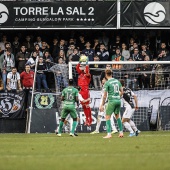
<svg viewBox="0 0 170 170"><path fill-rule="evenodd" d="M159 24L165 19L165 8L157 2L149 3L144 9L144 18L150 24Z"/></svg>

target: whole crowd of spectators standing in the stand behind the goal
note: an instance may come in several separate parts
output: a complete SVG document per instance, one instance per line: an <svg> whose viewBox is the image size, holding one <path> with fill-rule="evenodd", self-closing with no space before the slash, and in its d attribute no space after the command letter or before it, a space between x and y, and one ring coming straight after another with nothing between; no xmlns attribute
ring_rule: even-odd
<svg viewBox="0 0 170 170"><path fill-rule="evenodd" d="M71 33L67 39L54 35L52 41L48 42L48 37L43 39L41 35L26 35L21 41L18 35L8 40L8 34L1 34L0 89L9 91L32 89L37 56L36 90L41 91L43 87L46 92L55 88L55 80L59 91L68 85L68 77L63 76L66 71L68 74L65 68L70 61L79 61L81 54L85 54L89 61L170 61L169 43L161 40L161 36L158 35L155 35L153 40L149 33L140 39L135 34L125 38L121 34L109 36L101 31L94 37L87 37L85 33L79 35ZM58 67L54 67L56 64ZM62 66L65 66L64 70ZM127 86L131 86L132 89L155 88L162 84L168 87L169 65L109 65L109 63L90 65L91 87L101 88L103 74L101 70L105 67L112 68L114 76L120 75L121 72ZM74 68L73 78L77 85Z"/></svg>

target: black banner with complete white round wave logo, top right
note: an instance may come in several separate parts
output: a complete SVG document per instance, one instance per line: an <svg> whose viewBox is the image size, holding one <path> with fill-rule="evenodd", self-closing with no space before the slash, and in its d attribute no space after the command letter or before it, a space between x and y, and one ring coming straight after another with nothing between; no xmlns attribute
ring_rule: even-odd
<svg viewBox="0 0 170 170"><path fill-rule="evenodd" d="M121 27L169 27L170 2L121 1Z"/></svg>

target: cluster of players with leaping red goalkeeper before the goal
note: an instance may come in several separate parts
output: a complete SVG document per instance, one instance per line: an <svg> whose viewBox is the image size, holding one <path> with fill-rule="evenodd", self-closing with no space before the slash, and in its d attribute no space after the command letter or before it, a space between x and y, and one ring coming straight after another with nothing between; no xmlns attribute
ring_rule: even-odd
<svg viewBox="0 0 170 170"><path fill-rule="evenodd" d="M86 58L82 56L82 58ZM78 89L73 87L73 80L69 79L69 86L62 91L63 109L61 112L61 121L57 130L57 136L61 136L62 128L65 119L68 115L71 116L73 122L71 123L70 136L76 136L75 129L78 123L78 116L75 107L75 103L82 105L86 121L85 125L90 126L92 123L92 115L90 108L90 92L89 84L91 75L89 73L88 61L82 61L76 66L76 70L79 74L78 77ZM103 138L111 138L113 133L117 133L117 129L114 124L113 116L117 120L119 128L119 137L123 137L123 125L130 132L129 137L138 136L140 131L137 129L135 123L131 120L131 117L135 110L138 109L138 102L136 95L131 89L125 88L124 80L117 80L113 78L111 69L105 70L105 78L102 81L102 98L99 106L99 114L97 117L96 130L91 134L99 133L101 124L101 118L105 115L107 135ZM125 112L122 119L120 118L121 98L125 106ZM134 98L134 104L132 101ZM123 124L123 125L122 125ZM112 130L111 130L112 129Z"/></svg>

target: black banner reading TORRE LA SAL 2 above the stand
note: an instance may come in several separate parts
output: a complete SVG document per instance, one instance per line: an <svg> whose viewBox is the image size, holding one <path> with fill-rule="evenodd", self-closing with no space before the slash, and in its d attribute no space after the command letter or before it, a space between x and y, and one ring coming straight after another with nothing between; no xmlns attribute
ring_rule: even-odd
<svg viewBox="0 0 170 170"><path fill-rule="evenodd" d="M0 28L116 27L116 1L0 2Z"/></svg>

